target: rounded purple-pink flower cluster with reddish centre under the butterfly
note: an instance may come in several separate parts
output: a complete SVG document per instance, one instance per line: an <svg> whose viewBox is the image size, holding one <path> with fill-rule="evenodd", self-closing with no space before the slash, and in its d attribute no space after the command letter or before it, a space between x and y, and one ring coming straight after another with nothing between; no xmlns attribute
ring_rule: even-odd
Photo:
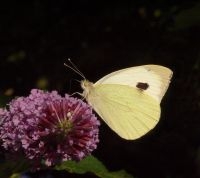
<svg viewBox="0 0 200 178"><path fill-rule="evenodd" d="M81 160L99 141L100 123L91 107L56 91L33 89L28 97L12 100L8 110L0 110L0 124L3 147L35 165Z"/></svg>

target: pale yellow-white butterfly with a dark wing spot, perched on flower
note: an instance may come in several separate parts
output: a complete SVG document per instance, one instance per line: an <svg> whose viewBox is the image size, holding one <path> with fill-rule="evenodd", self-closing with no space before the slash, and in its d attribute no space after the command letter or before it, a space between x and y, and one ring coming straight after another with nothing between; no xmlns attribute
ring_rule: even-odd
<svg viewBox="0 0 200 178"><path fill-rule="evenodd" d="M96 83L82 80L82 96L114 132L134 140L158 123L160 102L172 74L169 68L160 65L125 68Z"/></svg>

